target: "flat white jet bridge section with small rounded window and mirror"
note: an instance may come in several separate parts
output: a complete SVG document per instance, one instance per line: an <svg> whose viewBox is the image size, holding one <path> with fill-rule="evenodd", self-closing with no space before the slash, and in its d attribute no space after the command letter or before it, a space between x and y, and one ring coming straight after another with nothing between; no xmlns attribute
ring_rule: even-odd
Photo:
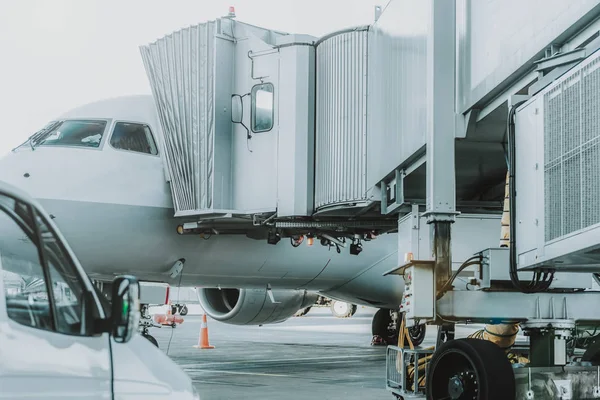
<svg viewBox="0 0 600 400"><path fill-rule="evenodd" d="M233 209L277 208L279 53L254 38L235 48L231 164ZM293 171L286 171L291 173Z"/></svg>

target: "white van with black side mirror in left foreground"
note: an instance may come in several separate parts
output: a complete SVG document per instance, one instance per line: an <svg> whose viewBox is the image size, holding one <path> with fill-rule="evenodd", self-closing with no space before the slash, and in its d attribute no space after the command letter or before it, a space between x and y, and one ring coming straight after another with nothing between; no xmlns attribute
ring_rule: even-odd
<svg viewBox="0 0 600 400"><path fill-rule="evenodd" d="M49 215L0 182L0 399L199 399L137 333L139 283L95 289Z"/></svg>

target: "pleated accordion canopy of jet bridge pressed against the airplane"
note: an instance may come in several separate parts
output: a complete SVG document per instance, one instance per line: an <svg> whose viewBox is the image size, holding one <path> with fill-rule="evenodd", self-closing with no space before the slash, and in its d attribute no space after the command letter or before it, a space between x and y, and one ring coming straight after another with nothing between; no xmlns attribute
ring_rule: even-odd
<svg viewBox="0 0 600 400"><path fill-rule="evenodd" d="M176 215L252 207L234 199L260 194L253 187L264 189L265 185L259 183L263 180L260 174L241 177L248 185L245 192L235 186L233 179L238 178L235 167L244 167L244 160L235 156L239 141L232 137L230 107L237 88L243 93L251 90L243 85L253 82L251 74L259 73L277 81L277 71L261 70L249 53L272 50L280 36L219 19L182 29L141 47L165 135L164 160ZM260 152L259 163L274 170L275 166L269 165L271 157L261 157L270 150L275 149ZM254 183L250 184L250 180ZM273 208L272 202L264 203L260 205L265 209Z"/></svg>

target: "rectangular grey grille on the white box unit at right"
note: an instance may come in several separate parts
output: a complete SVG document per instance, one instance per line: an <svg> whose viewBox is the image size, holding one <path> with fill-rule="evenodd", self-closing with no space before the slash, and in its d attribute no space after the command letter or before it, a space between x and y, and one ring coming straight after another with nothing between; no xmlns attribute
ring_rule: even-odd
<svg viewBox="0 0 600 400"><path fill-rule="evenodd" d="M600 223L600 58L544 94L546 241Z"/></svg>

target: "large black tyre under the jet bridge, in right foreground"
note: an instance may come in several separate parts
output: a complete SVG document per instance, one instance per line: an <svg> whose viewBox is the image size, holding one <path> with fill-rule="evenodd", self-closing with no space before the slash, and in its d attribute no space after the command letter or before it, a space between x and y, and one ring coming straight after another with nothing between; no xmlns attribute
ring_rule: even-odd
<svg viewBox="0 0 600 400"><path fill-rule="evenodd" d="M434 353L427 374L428 400L515 400L515 376L500 347L456 339Z"/></svg>

